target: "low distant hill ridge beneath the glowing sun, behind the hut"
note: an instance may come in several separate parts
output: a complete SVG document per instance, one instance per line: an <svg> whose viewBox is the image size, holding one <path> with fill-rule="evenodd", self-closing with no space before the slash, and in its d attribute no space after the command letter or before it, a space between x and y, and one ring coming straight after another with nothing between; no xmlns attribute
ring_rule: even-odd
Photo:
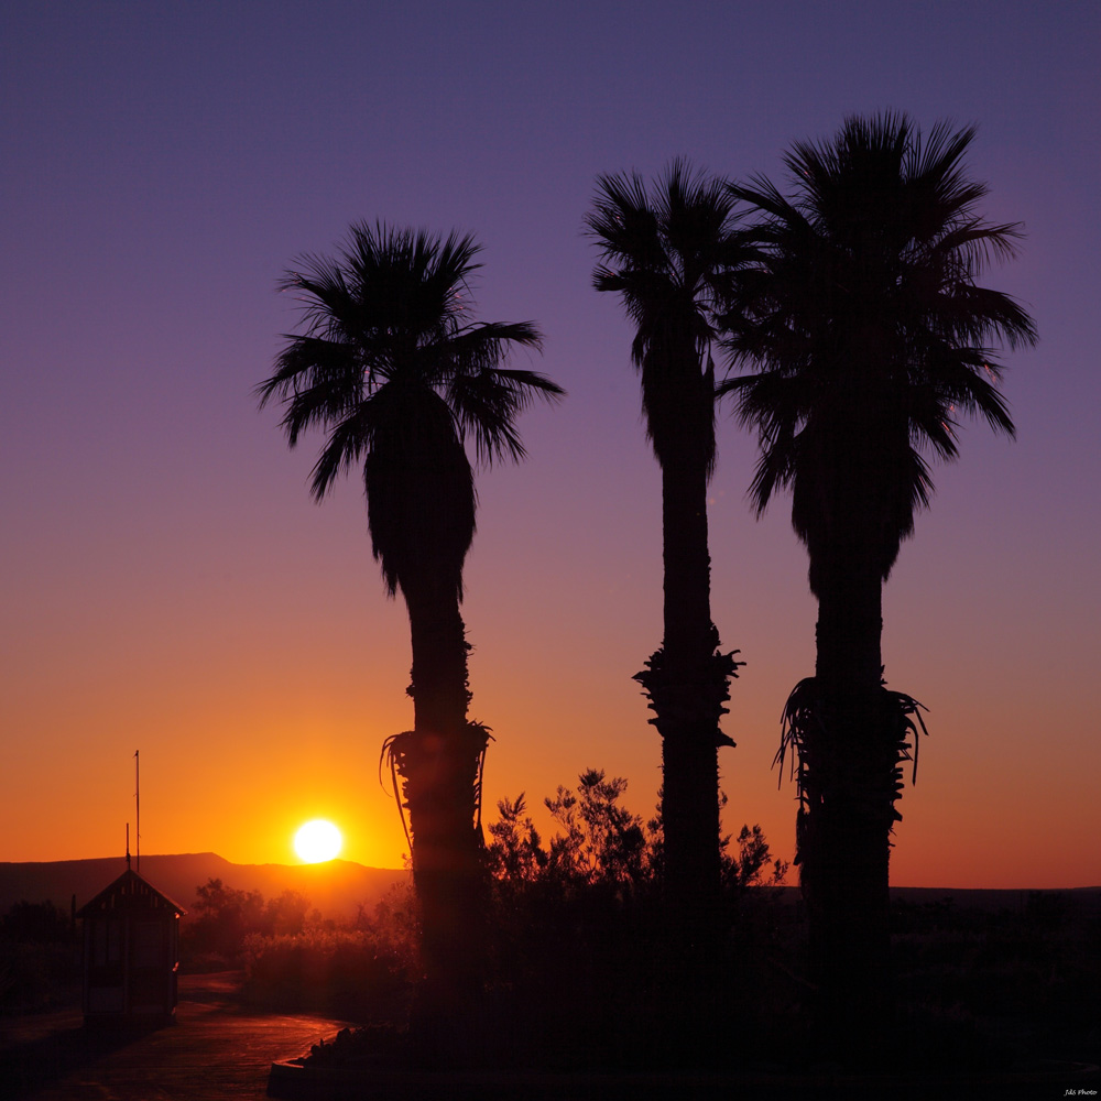
<svg viewBox="0 0 1101 1101"><path fill-rule="evenodd" d="M233 864L214 852L141 858L143 879L184 909L195 906L195 891L218 879L236 891L259 891L273 898L284 891L305 895L324 917L345 918L358 905L368 908L408 873L393 868L366 868L350 860L324 864ZM0 863L0 914L17 902L45 902L68 911L76 895L77 908L90 902L127 870L124 858L55 860L42 863Z"/></svg>

